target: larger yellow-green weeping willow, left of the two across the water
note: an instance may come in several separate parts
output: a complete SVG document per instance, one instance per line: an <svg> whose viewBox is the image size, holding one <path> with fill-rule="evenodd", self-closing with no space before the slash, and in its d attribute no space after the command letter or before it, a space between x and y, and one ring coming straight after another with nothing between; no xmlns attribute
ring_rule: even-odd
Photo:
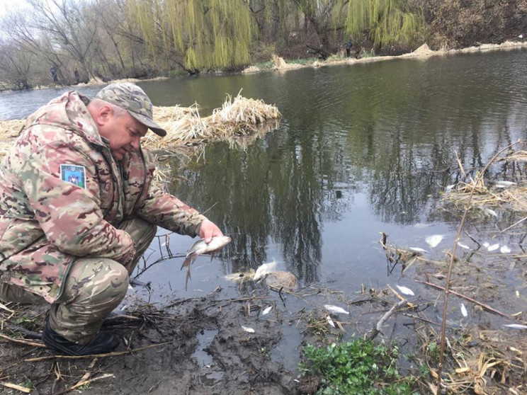
<svg viewBox="0 0 527 395"><path fill-rule="evenodd" d="M256 24L244 0L129 0L152 55L176 55L188 71L251 60Z"/></svg>

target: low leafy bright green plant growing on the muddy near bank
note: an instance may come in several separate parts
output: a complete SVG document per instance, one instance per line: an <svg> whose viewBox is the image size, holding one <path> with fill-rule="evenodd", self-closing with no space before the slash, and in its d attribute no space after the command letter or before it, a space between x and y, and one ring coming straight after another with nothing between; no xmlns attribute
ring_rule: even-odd
<svg viewBox="0 0 527 395"><path fill-rule="evenodd" d="M397 370L396 346L356 339L326 348L307 345L304 354L307 362L300 363L300 371L322 378L319 395L412 394L412 380L402 378Z"/></svg>

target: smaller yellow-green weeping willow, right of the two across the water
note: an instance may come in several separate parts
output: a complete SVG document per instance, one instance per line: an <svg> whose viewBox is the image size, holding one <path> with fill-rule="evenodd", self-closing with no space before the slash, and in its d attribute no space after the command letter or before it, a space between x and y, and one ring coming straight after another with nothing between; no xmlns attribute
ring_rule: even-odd
<svg viewBox="0 0 527 395"><path fill-rule="evenodd" d="M395 43L412 45L424 25L423 11L412 0L349 0L345 3L346 34L355 40L361 40L366 34L377 49Z"/></svg>

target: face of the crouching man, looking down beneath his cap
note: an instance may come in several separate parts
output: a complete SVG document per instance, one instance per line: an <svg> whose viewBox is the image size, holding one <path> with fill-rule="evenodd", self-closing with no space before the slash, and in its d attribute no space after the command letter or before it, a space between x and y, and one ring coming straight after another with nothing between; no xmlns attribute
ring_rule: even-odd
<svg viewBox="0 0 527 395"><path fill-rule="evenodd" d="M110 115L106 125L99 128L101 136L110 140L110 150L118 160L123 159L126 152L139 149L140 139L147 131L148 127L132 118L128 112Z"/></svg>

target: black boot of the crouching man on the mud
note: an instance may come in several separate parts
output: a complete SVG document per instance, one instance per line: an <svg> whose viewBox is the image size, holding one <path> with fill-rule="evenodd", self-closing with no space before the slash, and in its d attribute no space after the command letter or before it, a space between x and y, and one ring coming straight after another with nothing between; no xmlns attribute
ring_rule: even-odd
<svg viewBox="0 0 527 395"><path fill-rule="evenodd" d="M118 346L119 340L112 333L99 332L88 344L77 344L63 338L53 331L50 322L46 320L46 326L42 331L42 341L45 345L66 355L91 355L110 353Z"/></svg>

